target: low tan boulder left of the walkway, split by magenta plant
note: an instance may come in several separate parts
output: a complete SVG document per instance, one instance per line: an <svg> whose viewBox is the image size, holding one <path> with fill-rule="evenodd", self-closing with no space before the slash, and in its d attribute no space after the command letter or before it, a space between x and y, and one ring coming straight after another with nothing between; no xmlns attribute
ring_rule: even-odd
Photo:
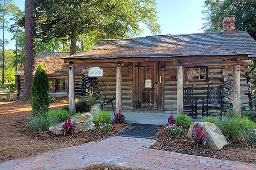
<svg viewBox="0 0 256 170"><path fill-rule="evenodd" d="M75 132L79 131L87 131L95 129L95 124L93 123L93 116L91 113L84 113L79 116L76 116L71 119L72 122L75 122L76 129ZM49 127L49 130L54 134L63 134L62 132L62 125L65 122L59 123L57 125L53 125Z"/></svg>

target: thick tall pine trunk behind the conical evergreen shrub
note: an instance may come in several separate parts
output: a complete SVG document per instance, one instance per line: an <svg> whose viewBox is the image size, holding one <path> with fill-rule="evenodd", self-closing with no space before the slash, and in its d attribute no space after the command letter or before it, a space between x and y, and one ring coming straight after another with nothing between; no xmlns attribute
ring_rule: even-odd
<svg viewBox="0 0 256 170"><path fill-rule="evenodd" d="M32 0L25 1L25 63L23 99L30 100L35 59L35 10Z"/></svg>

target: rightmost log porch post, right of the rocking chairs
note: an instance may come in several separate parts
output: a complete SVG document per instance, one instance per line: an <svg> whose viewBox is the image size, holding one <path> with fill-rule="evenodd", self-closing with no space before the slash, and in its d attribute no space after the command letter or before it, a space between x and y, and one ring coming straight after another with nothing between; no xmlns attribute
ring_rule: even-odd
<svg viewBox="0 0 256 170"><path fill-rule="evenodd" d="M233 66L233 114L241 117L240 65Z"/></svg>

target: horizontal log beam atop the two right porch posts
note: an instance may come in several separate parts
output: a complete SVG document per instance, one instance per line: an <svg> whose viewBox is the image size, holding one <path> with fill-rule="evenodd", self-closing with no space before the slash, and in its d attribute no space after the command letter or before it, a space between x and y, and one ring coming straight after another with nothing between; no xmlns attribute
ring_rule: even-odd
<svg viewBox="0 0 256 170"><path fill-rule="evenodd" d="M236 62L236 61L191 61L191 62L186 62L186 61L180 61L180 62L173 62L174 66L186 66L186 67L198 67L198 66L233 66L233 65L241 65L241 66L248 66L251 65L250 60L243 60L241 62Z"/></svg>

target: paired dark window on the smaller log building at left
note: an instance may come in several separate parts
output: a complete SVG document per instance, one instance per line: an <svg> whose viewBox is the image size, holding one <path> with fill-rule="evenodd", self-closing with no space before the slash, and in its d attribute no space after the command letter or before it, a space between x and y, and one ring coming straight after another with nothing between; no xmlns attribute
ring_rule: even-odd
<svg viewBox="0 0 256 170"><path fill-rule="evenodd" d="M49 92L67 91L67 79L49 79Z"/></svg>

